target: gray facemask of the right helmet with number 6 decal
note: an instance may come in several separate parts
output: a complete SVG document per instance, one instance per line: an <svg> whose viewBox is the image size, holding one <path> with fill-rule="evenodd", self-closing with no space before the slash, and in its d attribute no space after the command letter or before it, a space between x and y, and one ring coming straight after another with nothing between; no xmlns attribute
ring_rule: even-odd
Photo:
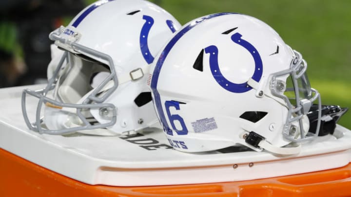
<svg viewBox="0 0 351 197"><path fill-rule="evenodd" d="M292 76L292 82L293 82L293 89L295 93L295 99L296 99L296 107L294 107L289 98L284 95L281 92L277 91L276 85L271 85L271 92L274 96L279 97L284 99L284 101L287 104L287 107L289 109L288 111L288 116L287 120L284 125L284 130L283 130L283 136L287 140L295 143L300 143L304 141L309 141L314 139L315 137L318 136L319 133L319 128L320 128L320 121L321 121L321 98L317 90L314 90L311 88L312 95L314 96L309 99L302 99L300 100L300 95L299 95L299 86L297 80L302 77L306 70L307 70L307 62L302 58L302 55L298 53L297 51L293 51L295 54L295 57L292 59L290 69L281 71L281 72L276 72L272 74L272 84L276 84L277 82L277 77L279 76L284 76L287 74L290 74ZM300 68L303 68L302 71L299 71ZM298 73L297 73L298 72ZM305 135L307 131L305 131L303 127L303 122L302 118L304 115L306 115L314 101L318 99L318 120L317 120L317 127L316 127L316 132L313 134ZM293 114L296 114L295 117L292 118ZM293 132L294 126L292 125L293 122L298 121L299 127L300 127L300 139L295 139L295 133Z"/></svg>

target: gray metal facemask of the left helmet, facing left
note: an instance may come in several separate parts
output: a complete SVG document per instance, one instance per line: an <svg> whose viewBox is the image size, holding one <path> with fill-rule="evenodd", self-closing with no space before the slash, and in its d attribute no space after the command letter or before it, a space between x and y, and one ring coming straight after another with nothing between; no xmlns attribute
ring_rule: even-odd
<svg viewBox="0 0 351 197"><path fill-rule="evenodd" d="M94 57L98 57L102 60L105 60L109 63L109 67L111 70L111 74L102 81L102 83L100 83L98 85L97 88L95 88L92 93L90 95L88 95L88 97L82 102L82 104L65 104L62 102L58 102L55 101L53 99L50 99L48 97L46 97L46 94L48 91L53 90L55 88L55 83L58 80L58 75L59 75L59 71L61 70L63 63L65 62L65 60L68 58L68 52L65 52L64 55L62 56L62 58L60 59L59 65L56 68L53 77L50 78L48 80L48 84L47 86L43 89L43 90L37 90L37 91L33 91L33 90L23 90L22 92L22 101L21 101L21 107L22 107L22 114L24 117L24 121L26 123L26 125L28 126L29 129L34 130L34 131L38 131L40 134L42 133L46 133L46 134L51 134L51 135L62 135L62 134L68 134L68 133L74 133L76 131L79 130L90 130L90 129L96 129L96 128L105 128L105 127L109 127L112 125L116 124L117 121L117 109L115 107L115 105L113 104L103 104L102 102L104 102L118 87L118 79L117 79L117 74L116 74L116 70L115 70L115 65L114 62L111 58L110 55L108 54L103 54L100 53L98 51L95 51L93 49L90 49L88 47L82 46L78 43L76 43L76 41L72 41L69 39L65 39L63 37L60 36L60 34L62 34L64 32L65 28L64 27L60 27L59 29L55 30L54 32L52 32L49 35L49 38L51 40L54 40L56 42L59 42L61 44L64 44L65 46L69 47L70 50L74 50L77 53L83 53L83 54L91 54ZM77 35L74 35L77 36ZM100 98L98 98L97 94L105 87L105 85L109 82L113 80L114 81L114 86L108 90L104 91L104 95L101 96ZM39 98L39 103L38 103L38 107L37 107L37 111L36 111L36 122L35 123L30 123L28 115L27 115L27 110L26 110L26 94L30 94L32 96L35 96L37 98ZM89 104L92 101L96 102L94 104ZM41 107L42 104L49 102L50 104L53 104L55 106L58 107L71 107L71 108L77 108L77 115L79 117L79 119L83 122L83 126L78 126L78 127L72 127L72 128L65 128L65 129L59 129L59 130L50 130L50 129L44 129L41 127L41 123L42 123L42 119L40 118L40 111L41 111ZM109 123L105 123L105 124L98 124L98 125L91 125L86 118L83 116L82 114L82 109L85 108L89 108L89 109L96 109L96 108L108 108L112 111L112 119Z"/></svg>

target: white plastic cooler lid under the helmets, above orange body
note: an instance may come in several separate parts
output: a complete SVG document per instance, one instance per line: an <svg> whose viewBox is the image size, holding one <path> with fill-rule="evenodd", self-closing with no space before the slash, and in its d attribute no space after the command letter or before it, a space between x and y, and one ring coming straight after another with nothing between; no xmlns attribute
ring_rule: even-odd
<svg viewBox="0 0 351 197"><path fill-rule="evenodd" d="M88 184L141 186L261 179L341 167L351 160L351 132L340 125L337 129L344 137L327 136L302 144L299 155L284 158L254 151L178 152L167 149L170 146L162 131L124 140L117 136L40 135L23 121L20 95L24 88L38 90L40 86L0 89L0 148ZM34 117L36 100L28 97L27 102L28 113ZM234 164L238 167L233 168Z"/></svg>

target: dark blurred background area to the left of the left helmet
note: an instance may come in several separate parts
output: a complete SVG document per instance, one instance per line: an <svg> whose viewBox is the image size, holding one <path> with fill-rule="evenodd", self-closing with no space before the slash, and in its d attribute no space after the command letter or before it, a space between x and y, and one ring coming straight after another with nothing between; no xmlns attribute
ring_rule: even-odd
<svg viewBox="0 0 351 197"><path fill-rule="evenodd" d="M0 87L45 82L49 33L85 6L83 0L1 0Z"/></svg>

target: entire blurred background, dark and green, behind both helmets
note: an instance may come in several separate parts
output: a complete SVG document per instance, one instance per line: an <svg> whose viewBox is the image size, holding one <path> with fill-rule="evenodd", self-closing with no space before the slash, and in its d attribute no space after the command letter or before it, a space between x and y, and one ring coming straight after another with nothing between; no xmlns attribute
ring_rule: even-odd
<svg viewBox="0 0 351 197"><path fill-rule="evenodd" d="M218 12L259 18L308 62L324 105L351 107L351 1L151 0L181 24ZM0 87L45 82L49 33L94 0L1 0ZM43 80L37 80L42 78ZM340 121L351 128L351 112Z"/></svg>

